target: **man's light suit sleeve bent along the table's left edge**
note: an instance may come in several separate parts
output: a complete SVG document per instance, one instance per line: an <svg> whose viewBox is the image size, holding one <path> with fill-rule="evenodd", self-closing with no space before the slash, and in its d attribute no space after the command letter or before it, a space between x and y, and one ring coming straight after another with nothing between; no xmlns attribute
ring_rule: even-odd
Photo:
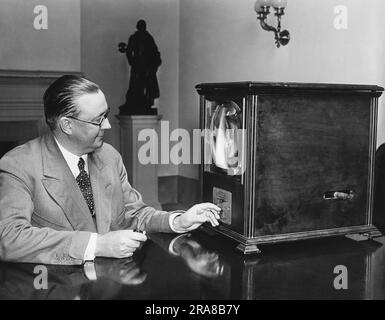
<svg viewBox="0 0 385 320"><path fill-rule="evenodd" d="M31 225L32 179L11 157L0 160L0 260L82 264L90 232Z"/></svg>

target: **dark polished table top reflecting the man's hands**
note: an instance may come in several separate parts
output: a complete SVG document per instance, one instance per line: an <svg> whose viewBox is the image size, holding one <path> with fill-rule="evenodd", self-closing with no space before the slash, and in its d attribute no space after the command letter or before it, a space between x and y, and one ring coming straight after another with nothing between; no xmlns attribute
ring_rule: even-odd
<svg viewBox="0 0 385 320"><path fill-rule="evenodd" d="M97 258L96 280L83 266L43 266L47 289L37 290L41 266L0 263L0 299L385 299L384 244L338 237L244 256L210 231L153 234L133 258ZM341 265L346 290L333 285Z"/></svg>

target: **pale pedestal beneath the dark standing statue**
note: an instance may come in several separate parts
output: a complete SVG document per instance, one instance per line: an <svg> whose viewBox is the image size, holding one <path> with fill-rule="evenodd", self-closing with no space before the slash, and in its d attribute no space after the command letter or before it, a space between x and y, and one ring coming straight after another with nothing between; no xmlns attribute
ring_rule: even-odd
<svg viewBox="0 0 385 320"><path fill-rule="evenodd" d="M120 124L120 152L127 170L128 180L143 197L144 203L161 209L158 201L158 168L157 164L142 164L138 159L140 147L149 143L139 141L139 132L143 129L154 129L159 132L160 115L135 115L116 116ZM157 145L154 150L159 150L158 139L153 140ZM158 158L158 154L156 154Z"/></svg>

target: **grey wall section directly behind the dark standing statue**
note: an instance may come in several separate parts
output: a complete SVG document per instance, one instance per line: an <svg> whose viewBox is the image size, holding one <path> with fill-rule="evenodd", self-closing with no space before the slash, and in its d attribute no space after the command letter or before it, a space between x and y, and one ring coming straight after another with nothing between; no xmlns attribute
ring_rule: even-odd
<svg viewBox="0 0 385 320"><path fill-rule="evenodd" d="M155 106L170 130L178 126L179 74L179 1L178 0L83 0L82 70L98 83L106 95L112 114L125 102L130 68L124 54L117 50L119 42L127 42L136 31L136 22L144 19L161 53L158 71L160 98ZM111 117L113 129L106 140L119 149L119 126ZM161 165L159 176L175 175L177 167Z"/></svg>

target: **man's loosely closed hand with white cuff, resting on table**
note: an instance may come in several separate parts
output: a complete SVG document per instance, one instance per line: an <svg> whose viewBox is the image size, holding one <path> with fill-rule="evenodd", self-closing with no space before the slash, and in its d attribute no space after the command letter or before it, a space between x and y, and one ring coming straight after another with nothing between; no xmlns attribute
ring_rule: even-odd
<svg viewBox="0 0 385 320"><path fill-rule="evenodd" d="M126 258L147 240L147 237L132 230L111 231L98 235L96 240L96 257Z"/></svg>

